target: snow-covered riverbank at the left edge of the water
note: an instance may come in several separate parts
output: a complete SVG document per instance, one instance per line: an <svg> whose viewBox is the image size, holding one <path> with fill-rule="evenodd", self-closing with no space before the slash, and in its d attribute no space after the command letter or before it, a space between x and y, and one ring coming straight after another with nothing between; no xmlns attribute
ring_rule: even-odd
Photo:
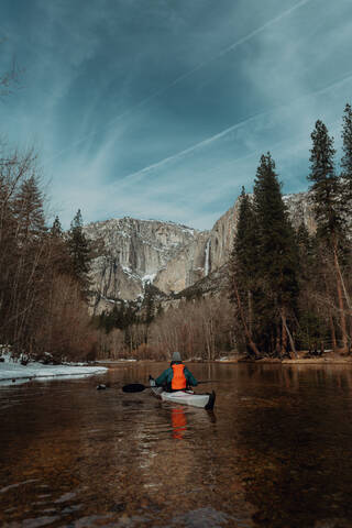
<svg viewBox="0 0 352 528"><path fill-rule="evenodd" d="M12 360L10 354L1 356L0 362L0 384L12 385L26 383L31 380L45 380L51 377L84 377L92 374L103 374L106 366L89 366L85 363L67 363L63 365L43 365L43 363L29 362L22 365Z"/></svg>

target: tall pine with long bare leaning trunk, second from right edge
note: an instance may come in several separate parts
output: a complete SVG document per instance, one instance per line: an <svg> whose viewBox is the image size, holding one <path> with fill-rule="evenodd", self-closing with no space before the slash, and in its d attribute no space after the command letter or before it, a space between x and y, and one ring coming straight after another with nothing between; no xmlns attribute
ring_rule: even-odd
<svg viewBox="0 0 352 528"><path fill-rule="evenodd" d="M348 118L346 118L348 122ZM343 302L343 282L339 262L339 253L345 239L344 204L341 200L341 178L336 174L333 138L329 136L328 129L318 120L311 133L312 147L310 150L310 194L317 220L317 235L320 242L331 252L336 273L336 284L339 304L340 327L343 348L348 346L346 321ZM345 145L346 146L346 145ZM345 156L348 151L345 150ZM349 166L344 157L345 169Z"/></svg>

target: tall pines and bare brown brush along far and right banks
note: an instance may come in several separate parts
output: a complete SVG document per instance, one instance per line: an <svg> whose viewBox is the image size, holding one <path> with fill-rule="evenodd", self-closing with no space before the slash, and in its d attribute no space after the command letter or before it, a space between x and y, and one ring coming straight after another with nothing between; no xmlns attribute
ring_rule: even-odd
<svg viewBox="0 0 352 528"><path fill-rule="evenodd" d="M216 294L170 302L166 311L151 311L146 298L144 319L142 310L127 322L123 307L102 314L106 353L163 359L177 349L202 360L231 351L252 359L351 353L351 106L342 118L340 163L320 120L311 142L314 232L304 222L294 229L275 162L263 155L253 193L242 189L226 284Z"/></svg>

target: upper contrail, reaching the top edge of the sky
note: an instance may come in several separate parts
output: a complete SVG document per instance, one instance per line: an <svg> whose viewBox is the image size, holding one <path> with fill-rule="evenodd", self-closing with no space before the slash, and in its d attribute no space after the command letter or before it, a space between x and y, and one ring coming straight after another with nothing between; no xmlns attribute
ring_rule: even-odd
<svg viewBox="0 0 352 528"><path fill-rule="evenodd" d="M161 88L160 90L155 91L154 94L152 94L151 96L146 97L145 99L143 99L142 101L138 102L134 107L132 107L131 109L129 110L125 110L124 112L122 112L120 116L117 116L112 121L110 121L106 127L103 127L101 130L103 129L107 129L107 128L110 128L112 127L117 121L120 121L121 119L130 116L132 112L134 112L135 110L138 110L139 108L143 107L144 105L146 105L147 102L152 101L153 99L156 99L157 97L162 96L163 94L165 94L166 91L168 91L170 88L173 88L174 86L178 85L178 82L182 82L183 80L187 79L188 77L190 77L191 75L194 75L196 72L198 72L199 69L204 68L205 66L207 66L208 64L211 64L213 63L215 61L217 61L218 58L222 57L223 55L227 55L229 52L232 52L233 50L235 50L237 47L241 46L242 44L244 44L245 42L250 41L251 38L253 38L254 36L258 35L260 33L262 33L263 31L265 31L267 28L271 28L272 25L274 25L276 22L279 22L282 19L284 19L285 16L288 16L290 13L293 13L294 11L296 11L297 9L301 8L302 6L305 6L306 3L310 2L311 0L301 0L300 2L297 2L295 6L293 6L292 8L287 9L286 11L283 11L280 14L278 14L277 16L275 16L274 19L265 22L265 24L261 25L260 28L257 28L256 30L252 31L251 33L249 33L248 35L243 36L242 38L240 38L239 41L234 42L233 44L231 44L230 46L228 47L224 47L223 50L221 50L217 55L215 55L213 57L207 59L207 61L204 61L202 63L199 63L197 66L195 66L193 69L190 69L189 72L186 72L185 74L180 75L179 77L177 77L175 80L173 80L169 85L166 85L164 88ZM85 141L87 141L89 138L94 138L96 134L98 134L99 131L92 131L90 132L89 134L80 138L79 140L77 140L76 142L74 142L70 146L66 147L66 148L63 148L62 151L59 151L58 153L56 153L54 156L52 156L47 162L52 162L54 160L56 160L57 157L59 157L62 154L64 154L65 152L68 152L68 151L72 151L73 148L75 148L76 146L78 146L80 143L84 143Z"/></svg>

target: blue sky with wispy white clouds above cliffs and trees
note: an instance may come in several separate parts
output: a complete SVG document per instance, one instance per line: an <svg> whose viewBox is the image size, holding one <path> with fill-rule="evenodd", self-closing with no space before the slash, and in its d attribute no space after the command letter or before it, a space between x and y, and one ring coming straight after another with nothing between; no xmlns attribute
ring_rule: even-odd
<svg viewBox="0 0 352 528"><path fill-rule="evenodd" d="M130 216L211 229L270 151L307 190L321 119L352 102L351 0L1 0L0 134L34 147L65 228Z"/></svg>

